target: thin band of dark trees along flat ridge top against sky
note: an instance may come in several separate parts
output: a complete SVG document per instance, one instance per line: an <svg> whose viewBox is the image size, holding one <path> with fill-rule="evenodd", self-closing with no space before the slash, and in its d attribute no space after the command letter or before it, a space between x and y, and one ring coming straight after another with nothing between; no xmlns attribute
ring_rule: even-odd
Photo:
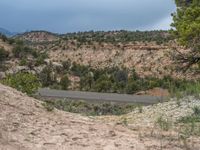
<svg viewBox="0 0 200 150"><path fill-rule="evenodd" d="M80 44L99 43L128 43L128 42L157 42L166 43L173 39L168 31L113 31L113 32L78 32L63 35L64 40L77 40Z"/></svg>

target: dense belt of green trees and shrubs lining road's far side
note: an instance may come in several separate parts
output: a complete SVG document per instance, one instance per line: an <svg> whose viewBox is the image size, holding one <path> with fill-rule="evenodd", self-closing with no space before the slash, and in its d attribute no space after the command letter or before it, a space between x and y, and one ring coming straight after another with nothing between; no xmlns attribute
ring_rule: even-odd
<svg viewBox="0 0 200 150"><path fill-rule="evenodd" d="M76 90L103 93L135 94L153 88L167 89L172 97L181 98L186 95L198 96L200 81L173 79L170 76L163 78L139 77L135 69L110 67L92 68L71 62L63 62L63 68L55 68L51 64L43 69L39 78L44 87L67 90L70 86L69 75L80 78ZM60 81L57 81L57 76Z"/></svg>

